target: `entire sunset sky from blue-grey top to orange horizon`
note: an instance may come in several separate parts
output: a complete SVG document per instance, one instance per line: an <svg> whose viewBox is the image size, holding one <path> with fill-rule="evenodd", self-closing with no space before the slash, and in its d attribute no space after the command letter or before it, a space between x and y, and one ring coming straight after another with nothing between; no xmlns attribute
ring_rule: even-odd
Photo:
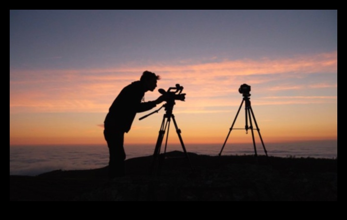
<svg viewBox="0 0 347 220"><path fill-rule="evenodd" d="M106 144L108 108L145 70L184 87L185 143L223 144L243 83L265 142L337 139L337 10L10 10L10 145ZM165 110L138 118L160 107L126 143L155 143Z"/></svg>

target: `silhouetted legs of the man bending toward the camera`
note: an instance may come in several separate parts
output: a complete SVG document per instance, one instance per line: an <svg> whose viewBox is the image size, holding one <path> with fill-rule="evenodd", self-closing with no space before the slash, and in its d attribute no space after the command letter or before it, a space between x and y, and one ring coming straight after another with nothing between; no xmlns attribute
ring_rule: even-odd
<svg viewBox="0 0 347 220"><path fill-rule="evenodd" d="M126 158L124 152L124 132L109 132L104 131L105 139L107 141L110 160L109 160L109 178L125 175L125 163Z"/></svg>

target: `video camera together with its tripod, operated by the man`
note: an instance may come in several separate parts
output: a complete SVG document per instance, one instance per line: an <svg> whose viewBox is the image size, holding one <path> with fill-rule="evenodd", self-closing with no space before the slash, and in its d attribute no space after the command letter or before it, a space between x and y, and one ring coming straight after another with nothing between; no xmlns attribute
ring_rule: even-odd
<svg viewBox="0 0 347 220"><path fill-rule="evenodd" d="M171 92L171 90L175 90L175 91ZM162 170L162 167L163 167L163 163L164 163L164 160L166 158L165 154L166 154L166 149L167 149L167 140L168 140L168 135L169 135L171 119L172 119L172 121L174 123L174 126L176 128L176 133L178 135L178 138L180 139L180 142L181 142L181 145L182 145L182 149L183 149L183 153L184 153L184 155L185 155L185 157L187 159L187 162L189 163L190 168L193 171L193 167L192 167L192 165L190 163L189 156L187 154L187 151L185 149L185 146L184 146L184 143L183 143L183 140L182 140L181 129L178 128L176 120L175 120L175 116L172 113L173 107L176 104L175 100L184 101L184 99L185 99L185 94L182 94L182 90L183 90L183 87L180 86L180 84L176 84L176 87L170 87L167 91L165 91L164 89L159 89L158 92L164 95L166 103L162 107L160 107L158 110L155 110L155 111L153 111L153 112L151 112L151 113L149 113L149 114L139 118L139 120L142 120L142 119L148 117L149 115L158 112L163 107L165 107L165 112L166 113L163 116L163 121L162 121L162 124L160 126L157 143L155 145L155 149L154 149L154 153L153 153L153 161L152 161L152 164L151 164L150 170L149 170L150 174L154 173L154 170L157 170L156 173L158 175L161 173L161 170ZM167 128L167 130L166 130L166 128ZM160 153L165 133L166 133L166 139L165 139L164 153Z"/></svg>

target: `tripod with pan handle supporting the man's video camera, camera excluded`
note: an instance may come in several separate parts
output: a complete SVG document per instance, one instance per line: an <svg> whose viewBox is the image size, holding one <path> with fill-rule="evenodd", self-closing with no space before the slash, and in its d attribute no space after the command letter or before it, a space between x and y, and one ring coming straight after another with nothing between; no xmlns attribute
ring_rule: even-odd
<svg viewBox="0 0 347 220"><path fill-rule="evenodd" d="M187 159L187 162L190 165L190 168L193 171L193 167L192 167L192 165L190 163L190 159L188 157L187 151L185 149L185 146L184 146L184 143L183 143L183 140L182 140L181 129L178 128L176 120L175 120L175 116L172 113L174 105L175 105L174 100L169 100L160 109L154 111L154 112L158 112L163 107L165 107L166 113L163 116L163 121L162 121L162 124L160 126L157 143L155 145L155 149L154 149L154 153L153 153L153 161L152 161L152 164L151 164L151 167L150 167L150 170L149 170L150 174L153 173L156 165L157 165L157 174L159 175L161 173L161 169L163 167L163 163L164 163L164 160L165 160L165 154L166 154L166 148L167 148L167 139L168 139L168 135L169 135L171 119L172 119L172 121L173 121L173 123L175 125L176 132L177 132L177 135L178 135L178 137L180 139L184 155L185 155L185 157ZM145 118L145 117L147 117L147 116L149 116L149 115L151 115L151 114L153 114L154 112L152 112L152 113L150 113L150 114L140 118L140 120ZM167 128L167 131L166 131L166 128ZM162 143L163 143L163 140L164 140L165 133L166 133L165 149L164 149L164 153L161 154L160 151L161 151L161 147L162 147Z"/></svg>

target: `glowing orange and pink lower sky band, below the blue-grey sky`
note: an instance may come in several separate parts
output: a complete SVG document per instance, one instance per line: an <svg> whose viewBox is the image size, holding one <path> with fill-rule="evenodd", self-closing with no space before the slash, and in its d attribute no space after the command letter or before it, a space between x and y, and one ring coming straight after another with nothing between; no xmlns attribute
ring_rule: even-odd
<svg viewBox="0 0 347 220"><path fill-rule="evenodd" d="M176 83L184 87L186 101L176 101L174 114L186 143L224 142L242 101L238 88L243 83L251 86L252 109L265 142L337 138L334 51L203 64L10 70L19 76L10 80L10 145L104 143L102 124L109 106L144 70L161 75L157 89ZM159 95L148 92L145 100ZM137 114L127 143L155 143L165 111L138 120L149 112ZM242 108L234 128L244 126ZM174 126L169 140L178 142ZM251 134L233 130L229 141L251 141Z"/></svg>

